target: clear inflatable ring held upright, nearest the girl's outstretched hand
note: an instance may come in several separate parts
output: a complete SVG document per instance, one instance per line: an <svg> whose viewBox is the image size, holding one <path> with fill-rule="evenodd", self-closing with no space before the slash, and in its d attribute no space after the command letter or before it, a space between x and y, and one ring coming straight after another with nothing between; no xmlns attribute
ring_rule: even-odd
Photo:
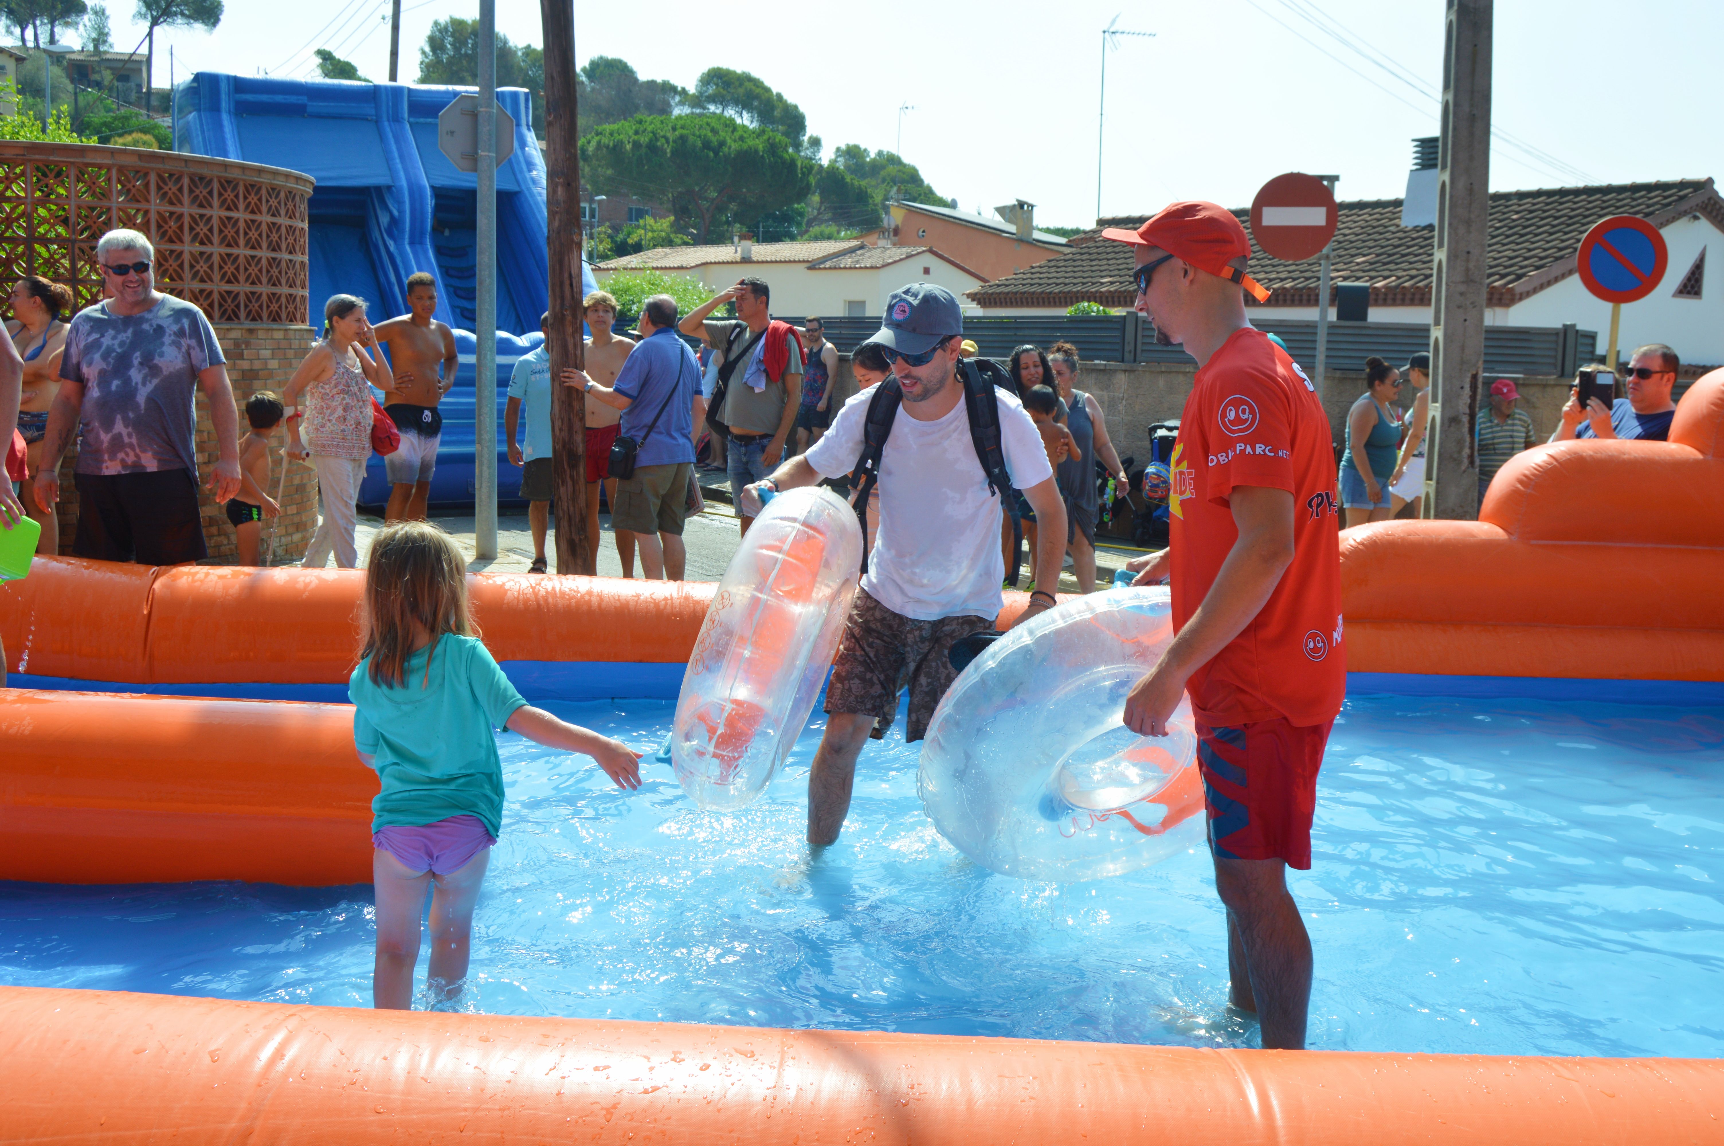
<svg viewBox="0 0 1724 1146"><path fill-rule="evenodd" d="M752 803L809 722L862 565L857 514L831 489L790 489L731 558L683 674L671 765L703 808Z"/></svg>

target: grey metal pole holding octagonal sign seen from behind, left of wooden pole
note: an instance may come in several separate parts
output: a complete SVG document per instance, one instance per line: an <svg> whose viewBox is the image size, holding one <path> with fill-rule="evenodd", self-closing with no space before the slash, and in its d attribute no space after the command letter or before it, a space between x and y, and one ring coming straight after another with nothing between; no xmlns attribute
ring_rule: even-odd
<svg viewBox="0 0 1724 1146"><path fill-rule="evenodd" d="M478 339L472 388L472 555L497 558L497 0L479 0Z"/></svg>

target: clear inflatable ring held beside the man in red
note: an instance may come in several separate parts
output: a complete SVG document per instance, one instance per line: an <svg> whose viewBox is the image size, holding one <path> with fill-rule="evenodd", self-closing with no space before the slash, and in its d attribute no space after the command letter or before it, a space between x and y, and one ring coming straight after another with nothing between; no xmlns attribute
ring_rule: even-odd
<svg viewBox="0 0 1724 1146"><path fill-rule="evenodd" d="M922 746L922 807L952 844L1021 879L1119 875L1203 838L1191 705L1165 738L1121 720L1172 641L1160 586L1062 601L952 682Z"/></svg>

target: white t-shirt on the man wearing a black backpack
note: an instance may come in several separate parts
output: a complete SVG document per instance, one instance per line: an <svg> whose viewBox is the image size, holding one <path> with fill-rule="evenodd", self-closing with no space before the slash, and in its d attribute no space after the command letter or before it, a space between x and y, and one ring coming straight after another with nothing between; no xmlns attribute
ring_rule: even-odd
<svg viewBox="0 0 1724 1146"><path fill-rule="evenodd" d="M957 383L953 383L957 384ZM1003 393L1000 448L1012 484L1040 486L1053 470L1036 424L1024 405ZM862 453L862 429L874 389L845 402L831 429L809 450L822 477L848 474ZM1005 605L1000 582L1000 498L976 457L969 414L959 402L938 422L921 422L902 408L879 462L879 533L862 588L891 612L912 620L995 617Z"/></svg>

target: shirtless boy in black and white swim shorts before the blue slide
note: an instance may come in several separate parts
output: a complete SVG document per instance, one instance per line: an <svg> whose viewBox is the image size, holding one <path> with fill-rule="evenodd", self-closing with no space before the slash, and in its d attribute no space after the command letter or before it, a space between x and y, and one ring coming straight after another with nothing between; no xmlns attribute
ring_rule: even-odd
<svg viewBox="0 0 1724 1146"><path fill-rule="evenodd" d="M402 431L402 446L383 458L390 477L390 507L384 520L422 520L436 472L436 448L443 439L443 414L436 403L455 384L455 333L431 315L436 312L436 279L421 271L407 277L407 308L398 319L379 322L378 341L390 348L395 372L393 402L383 407Z"/></svg>

